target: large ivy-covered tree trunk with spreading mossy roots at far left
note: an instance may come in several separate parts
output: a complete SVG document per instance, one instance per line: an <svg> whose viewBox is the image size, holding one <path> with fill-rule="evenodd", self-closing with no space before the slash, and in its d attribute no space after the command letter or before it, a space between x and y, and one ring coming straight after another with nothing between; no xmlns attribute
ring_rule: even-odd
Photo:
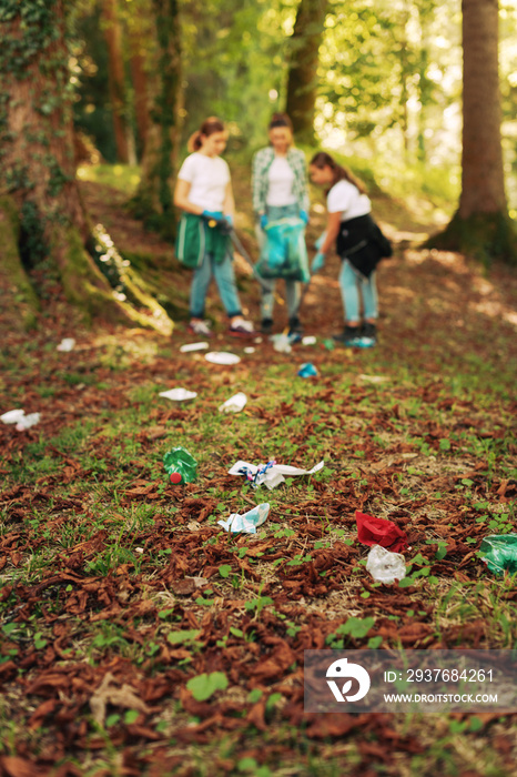
<svg viewBox="0 0 517 777"><path fill-rule="evenodd" d="M24 0L0 13L0 265L28 300L22 261L29 274L50 271L89 317L170 331L152 300L140 300L140 310L125 301L134 284L122 278L122 262L123 290L114 292L87 250L98 241L75 181L63 8L64 0Z"/></svg>

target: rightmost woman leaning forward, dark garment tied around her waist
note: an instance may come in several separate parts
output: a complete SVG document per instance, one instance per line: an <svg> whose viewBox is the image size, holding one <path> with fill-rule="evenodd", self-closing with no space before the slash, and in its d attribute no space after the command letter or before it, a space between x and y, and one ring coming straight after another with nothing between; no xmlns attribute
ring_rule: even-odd
<svg viewBox="0 0 517 777"><path fill-rule="evenodd" d="M345 327L343 333L334 335L334 340L347 346L371 347L376 343L378 315L375 271L364 275L352 263L354 253L368 252L369 245L373 245L371 235L376 226L369 215L369 199L363 184L324 151L313 157L308 169L313 183L328 186L327 226L316 243L318 253L311 270L317 272L323 269L326 254L334 244L342 259L339 287ZM363 324L359 295L363 297Z"/></svg>

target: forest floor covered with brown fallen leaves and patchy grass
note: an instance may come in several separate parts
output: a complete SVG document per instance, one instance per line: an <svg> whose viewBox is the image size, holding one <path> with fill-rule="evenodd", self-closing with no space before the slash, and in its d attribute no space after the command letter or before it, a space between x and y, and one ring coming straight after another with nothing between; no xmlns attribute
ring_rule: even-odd
<svg viewBox="0 0 517 777"><path fill-rule="evenodd" d="M247 172L237 229L255 254ZM0 775L515 775L517 715L304 712L304 650L510 648L515 578L479 557L515 532L517 274L420 250L436 224L375 198L396 245L378 271L379 342L331 349L342 326L328 262L307 293L315 345L232 341L216 292L211 364L181 353L190 275L124 209L83 182L95 222L175 310L172 337L80 325L57 295L30 335L3 321L0 411ZM315 205L310 236L323 228ZM237 261L246 314L258 290ZM278 305L277 331L285 323ZM57 351L62 337L75 349ZM296 373L312 362L317 377ZM161 391L197 392L173 403ZM242 413L223 415L237 391ZM194 483L169 484L184 445ZM275 458L311 477L254 491L230 467ZM217 525L270 503L256 535ZM406 577L375 583L355 512L408 537Z"/></svg>

